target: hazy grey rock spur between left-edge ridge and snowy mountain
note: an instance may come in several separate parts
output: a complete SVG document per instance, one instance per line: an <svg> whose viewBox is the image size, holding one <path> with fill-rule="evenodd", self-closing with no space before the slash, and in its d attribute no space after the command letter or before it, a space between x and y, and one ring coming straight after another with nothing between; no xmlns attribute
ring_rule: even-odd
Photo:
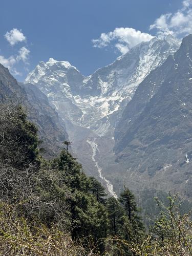
<svg viewBox="0 0 192 256"><path fill-rule="evenodd" d="M65 123L59 120L55 109L49 104L47 96L33 84L22 84L28 98L29 119L36 123L41 146L46 149L47 158L56 156L63 147L62 142L68 139Z"/></svg>

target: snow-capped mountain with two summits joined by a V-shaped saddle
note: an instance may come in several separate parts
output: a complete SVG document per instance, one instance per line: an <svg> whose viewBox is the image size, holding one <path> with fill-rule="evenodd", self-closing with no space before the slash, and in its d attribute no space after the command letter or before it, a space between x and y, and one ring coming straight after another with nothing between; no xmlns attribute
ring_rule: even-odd
<svg viewBox="0 0 192 256"><path fill-rule="evenodd" d="M62 119L103 136L115 127L139 83L179 46L170 35L141 42L88 77L69 62L50 58L39 62L25 82L44 92Z"/></svg>

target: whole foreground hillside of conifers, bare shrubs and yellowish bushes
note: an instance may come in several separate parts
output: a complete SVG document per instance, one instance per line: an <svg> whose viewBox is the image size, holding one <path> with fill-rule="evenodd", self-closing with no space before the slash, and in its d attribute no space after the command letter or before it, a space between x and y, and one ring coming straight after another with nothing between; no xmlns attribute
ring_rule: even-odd
<svg viewBox="0 0 192 256"><path fill-rule="evenodd" d="M38 150L36 126L17 98L0 102L1 255L190 255L191 222L169 197L145 231L135 197L108 197L63 145L53 160Z"/></svg>

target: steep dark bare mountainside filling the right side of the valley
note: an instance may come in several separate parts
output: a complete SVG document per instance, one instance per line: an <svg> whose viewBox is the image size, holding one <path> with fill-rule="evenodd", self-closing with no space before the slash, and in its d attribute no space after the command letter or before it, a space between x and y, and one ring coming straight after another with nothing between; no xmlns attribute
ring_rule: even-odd
<svg viewBox="0 0 192 256"><path fill-rule="evenodd" d="M131 187L191 193L192 35L139 85L115 131L116 162Z"/></svg>

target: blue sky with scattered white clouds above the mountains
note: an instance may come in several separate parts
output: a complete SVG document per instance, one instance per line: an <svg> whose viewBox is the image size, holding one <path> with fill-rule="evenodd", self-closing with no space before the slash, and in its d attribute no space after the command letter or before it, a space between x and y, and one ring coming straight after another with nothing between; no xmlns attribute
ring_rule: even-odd
<svg viewBox="0 0 192 256"><path fill-rule="evenodd" d="M190 33L191 15L191 0L3 0L0 62L19 81L50 57L89 75L143 38Z"/></svg>

